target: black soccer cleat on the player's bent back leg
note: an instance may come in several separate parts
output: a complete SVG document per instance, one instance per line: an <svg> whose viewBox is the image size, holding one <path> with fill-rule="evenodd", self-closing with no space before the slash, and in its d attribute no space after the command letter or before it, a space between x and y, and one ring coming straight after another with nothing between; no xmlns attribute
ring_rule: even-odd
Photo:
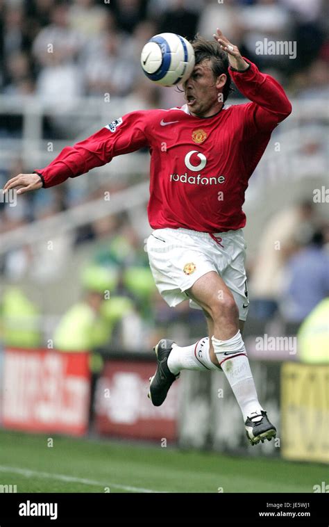
<svg viewBox="0 0 329 527"><path fill-rule="evenodd" d="M167 360L172 350L174 341L161 339L153 350L155 351L158 366L153 377L150 377L150 391L148 397L154 406L162 405L167 397L171 384L179 377L174 375L168 368Z"/></svg>

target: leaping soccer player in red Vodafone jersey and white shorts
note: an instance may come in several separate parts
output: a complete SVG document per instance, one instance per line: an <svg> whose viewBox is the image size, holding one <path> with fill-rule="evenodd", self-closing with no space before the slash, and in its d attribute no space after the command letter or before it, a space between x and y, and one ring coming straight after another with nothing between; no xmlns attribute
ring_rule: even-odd
<svg viewBox="0 0 329 527"><path fill-rule="evenodd" d="M217 29L193 42L186 103L135 111L111 122L46 168L10 179L4 190L49 188L148 146L151 152L149 263L167 303L189 299L203 309L208 337L193 346L161 339L149 397L160 406L183 369L223 371L242 411L251 444L276 436L258 401L242 329L248 312L242 211L244 193L271 132L292 106L278 82L243 58ZM228 106L230 77L251 102Z"/></svg>

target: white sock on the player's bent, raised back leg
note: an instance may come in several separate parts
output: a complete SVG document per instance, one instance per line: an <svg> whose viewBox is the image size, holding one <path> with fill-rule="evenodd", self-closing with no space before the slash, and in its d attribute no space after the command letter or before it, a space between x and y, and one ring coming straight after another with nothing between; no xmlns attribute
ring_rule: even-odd
<svg viewBox="0 0 329 527"><path fill-rule="evenodd" d="M219 367L210 359L209 337L204 337L191 346L181 347L174 344L167 364L174 375L177 375L180 370L219 370Z"/></svg>

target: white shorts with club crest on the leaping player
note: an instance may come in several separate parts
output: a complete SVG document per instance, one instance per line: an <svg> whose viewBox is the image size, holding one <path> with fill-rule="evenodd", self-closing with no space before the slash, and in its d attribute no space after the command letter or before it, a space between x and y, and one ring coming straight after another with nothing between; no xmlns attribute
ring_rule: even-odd
<svg viewBox="0 0 329 527"><path fill-rule="evenodd" d="M189 229L155 229L146 249L155 284L170 307L188 298L185 291L205 273L216 271L232 292L239 320L248 314L246 287L246 242L242 229L214 234ZM190 307L202 309L189 300Z"/></svg>

